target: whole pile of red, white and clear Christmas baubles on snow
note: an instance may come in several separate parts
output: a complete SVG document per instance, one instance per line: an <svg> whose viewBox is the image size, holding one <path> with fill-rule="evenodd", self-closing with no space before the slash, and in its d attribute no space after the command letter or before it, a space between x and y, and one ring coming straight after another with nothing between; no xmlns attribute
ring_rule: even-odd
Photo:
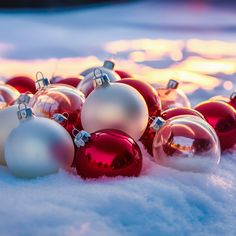
<svg viewBox="0 0 236 236"><path fill-rule="evenodd" d="M177 81L152 86L114 66L1 84L0 164L22 178L60 168L82 178L139 176L143 145L153 163L208 172L236 144L235 92L193 109Z"/></svg>

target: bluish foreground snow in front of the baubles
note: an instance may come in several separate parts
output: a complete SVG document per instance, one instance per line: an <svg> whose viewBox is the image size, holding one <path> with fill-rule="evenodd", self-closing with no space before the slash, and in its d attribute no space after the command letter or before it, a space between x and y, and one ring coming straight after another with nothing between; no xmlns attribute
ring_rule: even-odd
<svg viewBox="0 0 236 236"><path fill-rule="evenodd" d="M1 235L235 235L236 157L214 174L145 160L139 178L20 180L0 169Z"/></svg>

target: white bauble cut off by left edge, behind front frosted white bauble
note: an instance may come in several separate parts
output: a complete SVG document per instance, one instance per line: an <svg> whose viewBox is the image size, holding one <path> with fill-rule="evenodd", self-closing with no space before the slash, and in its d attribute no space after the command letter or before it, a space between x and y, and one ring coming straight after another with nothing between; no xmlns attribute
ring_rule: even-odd
<svg viewBox="0 0 236 236"><path fill-rule="evenodd" d="M4 158L4 145L11 131L18 126L18 106L13 105L0 110L0 165L6 165Z"/></svg>

